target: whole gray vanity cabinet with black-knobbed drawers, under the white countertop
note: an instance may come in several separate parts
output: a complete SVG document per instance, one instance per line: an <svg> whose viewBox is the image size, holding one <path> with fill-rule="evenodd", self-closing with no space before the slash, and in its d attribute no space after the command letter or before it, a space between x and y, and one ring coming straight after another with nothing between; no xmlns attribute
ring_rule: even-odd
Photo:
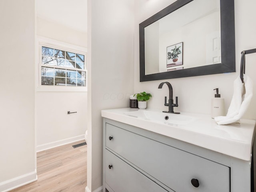
<svg viewBox="0 0 256 192"><path fill-rule="evenodd" d="M104 192L230 192L228 156L105 118L103 132Z"/></svg>

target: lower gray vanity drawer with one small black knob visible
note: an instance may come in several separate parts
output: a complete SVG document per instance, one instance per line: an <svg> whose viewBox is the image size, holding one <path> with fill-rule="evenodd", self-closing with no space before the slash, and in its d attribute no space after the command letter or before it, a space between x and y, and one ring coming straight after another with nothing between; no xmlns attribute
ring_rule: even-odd
<svg viewBox="0 0 256 192"><path fill-rule="evenodd" d="M106 184L114 192L168 192L106 149L105 157Z"/></svg>

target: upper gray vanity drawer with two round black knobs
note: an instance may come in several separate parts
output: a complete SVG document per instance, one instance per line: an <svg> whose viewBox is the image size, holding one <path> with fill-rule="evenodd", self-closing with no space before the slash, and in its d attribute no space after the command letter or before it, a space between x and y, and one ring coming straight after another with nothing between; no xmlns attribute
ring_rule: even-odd
<svg viewBox="0 0 256 192"><path fill-rule="evenodd" d="M106 147L176 192L230 192L229 167L107 123Z"/></svg>

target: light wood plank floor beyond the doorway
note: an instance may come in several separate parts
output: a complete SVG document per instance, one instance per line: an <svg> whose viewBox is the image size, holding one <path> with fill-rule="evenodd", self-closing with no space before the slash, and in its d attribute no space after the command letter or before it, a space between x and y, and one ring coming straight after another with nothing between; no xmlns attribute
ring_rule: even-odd
<svg viewBox="0 0 256 192"><path fill-rule="evenodd" d="M87 145L78 141L37 153L38 180L10 192L84 192L87 182Z"/></svg>

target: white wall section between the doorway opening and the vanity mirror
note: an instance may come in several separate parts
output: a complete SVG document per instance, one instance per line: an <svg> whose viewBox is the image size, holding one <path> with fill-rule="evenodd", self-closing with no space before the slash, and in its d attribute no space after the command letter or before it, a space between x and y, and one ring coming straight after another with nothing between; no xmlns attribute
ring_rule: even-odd
<svg viewBox="0 0 256 192"><path fill-rule="evenodd" d="M102 186L101 110L129 106L133 93L134 2L88 0L87 188Z"/></svg>

